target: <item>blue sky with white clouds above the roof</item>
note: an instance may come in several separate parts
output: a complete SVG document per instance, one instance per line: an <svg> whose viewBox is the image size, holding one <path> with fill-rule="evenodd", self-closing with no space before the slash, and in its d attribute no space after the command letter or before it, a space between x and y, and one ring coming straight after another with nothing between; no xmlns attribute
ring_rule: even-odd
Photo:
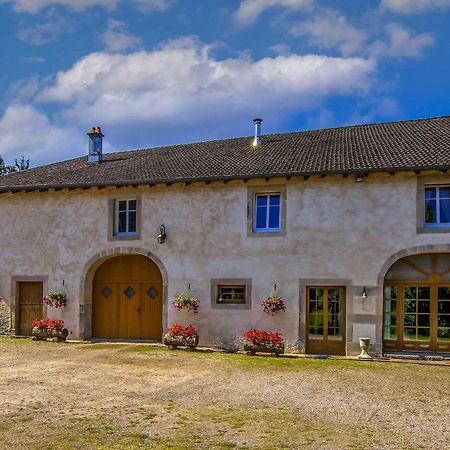
<svg viewBox="0 0 450 450"><path fill-rule="evenodd" d="M0 0L0 154L450 114L450 0Z"/></svg>

